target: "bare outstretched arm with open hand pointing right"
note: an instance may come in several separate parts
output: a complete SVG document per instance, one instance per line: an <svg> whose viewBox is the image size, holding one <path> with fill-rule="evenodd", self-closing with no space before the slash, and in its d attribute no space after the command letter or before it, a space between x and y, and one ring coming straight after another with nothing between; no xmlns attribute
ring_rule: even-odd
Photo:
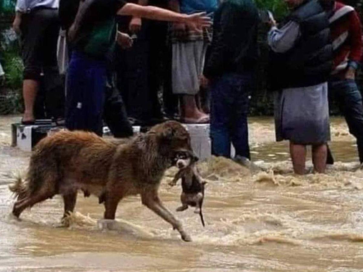
<svg viewBox="0 0 363 272"><path fill-rule="evenodd" d="M117 12L118 15L131 15L135 17L143 17L151 20L181 22L188 24L191 29L200 30L203 27L212 24L211 18L205 16L205 12L186 15L169 11L153 6L140 6L127 3Z"/></svg>

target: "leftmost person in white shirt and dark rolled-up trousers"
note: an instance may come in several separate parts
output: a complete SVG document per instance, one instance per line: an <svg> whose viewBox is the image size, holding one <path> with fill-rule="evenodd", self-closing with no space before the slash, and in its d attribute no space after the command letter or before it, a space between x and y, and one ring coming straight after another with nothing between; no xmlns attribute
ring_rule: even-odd
<svg viewBox="0 0 363 272"><path fill-rule="evenodd" d="M60 81L57 67L58 5L59 0L17 0L16 3L13 29L20 34L24 63L23 124L34 123L34 102L41 73L45 82Z"/></svg>

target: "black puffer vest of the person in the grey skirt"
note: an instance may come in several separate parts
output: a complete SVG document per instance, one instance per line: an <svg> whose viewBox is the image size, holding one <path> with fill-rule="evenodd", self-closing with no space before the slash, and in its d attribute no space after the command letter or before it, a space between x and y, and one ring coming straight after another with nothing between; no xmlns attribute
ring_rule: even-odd
<svg viewBox="0 0 363 272"><path fill-rule="evenodd" d="M327 81L333 65L328 15L318 0L296 8L287 21L299 24L300 37L285 53L272 53L271 77L276 88L313 86Z"/></svg>

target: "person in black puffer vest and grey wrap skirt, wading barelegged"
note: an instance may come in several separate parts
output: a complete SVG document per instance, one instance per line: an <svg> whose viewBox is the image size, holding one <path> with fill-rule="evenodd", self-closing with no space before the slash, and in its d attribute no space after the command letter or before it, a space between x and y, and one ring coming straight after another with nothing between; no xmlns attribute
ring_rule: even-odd
<svg viewBox="0 0 363 272"><path fill-rule="evenodd" d="M286 23L272 28L277 140L290 141L296 174L305 173L306 145L312 145L314 170L324 173L330 140L327 79L332 67L328 15L318 0L285 0L292 9Z"/></svg>

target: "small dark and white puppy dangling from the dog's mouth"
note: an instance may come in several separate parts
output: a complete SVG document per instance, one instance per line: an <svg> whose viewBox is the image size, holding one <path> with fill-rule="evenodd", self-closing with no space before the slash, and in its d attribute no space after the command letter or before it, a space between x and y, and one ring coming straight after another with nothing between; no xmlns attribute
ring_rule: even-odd
<svg viewBox="0 0 363 272"><path fill-rule="evenodd" d="M169 183L171 186L181 178L181 187L183 189L180 200L181 206L176 211L184 211L188 206L195 207L194 213L200 215L204 227L204 218L202 214L202 205L204 199L204 186L207 182L201 179L196 162L198 158L191 152L176 152L175 165L179 168L174 179Z"/></svg>

